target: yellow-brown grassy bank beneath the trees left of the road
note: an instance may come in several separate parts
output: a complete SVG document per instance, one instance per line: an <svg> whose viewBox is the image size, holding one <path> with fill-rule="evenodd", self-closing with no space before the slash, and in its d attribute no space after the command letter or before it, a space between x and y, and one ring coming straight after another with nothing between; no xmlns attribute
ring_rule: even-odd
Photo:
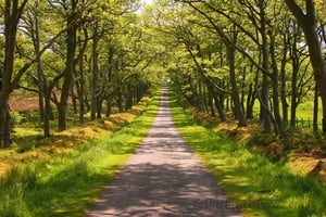
<svg viewBox="0 0 326 217"><path fill-rule="evenodd" d="M148 105L150 98L143 97L141 101L130 110L112 114L110 117L90 120L86 115L85 124L78 123L78 115L70 114L68 129L62 132L57 130L57 122L51 122L51 137L42 136L42 126L36 112L12 114L14 130L13 145L10 149L0 150L0 176L17 164L29 164L55 154L68 152L78 145L83 145L96 138L116 131L136 116L140 115Z"/></svg>

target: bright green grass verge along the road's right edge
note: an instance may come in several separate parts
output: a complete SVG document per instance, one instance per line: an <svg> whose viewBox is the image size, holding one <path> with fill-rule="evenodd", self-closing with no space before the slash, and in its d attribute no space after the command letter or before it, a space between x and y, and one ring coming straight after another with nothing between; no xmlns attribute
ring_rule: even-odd
<svg viewBox="0 0 326 217"><path fill-rule="evenodd" d="M326 216L326 188L195 124L171 92L173 119L246 216Z"/></svg>

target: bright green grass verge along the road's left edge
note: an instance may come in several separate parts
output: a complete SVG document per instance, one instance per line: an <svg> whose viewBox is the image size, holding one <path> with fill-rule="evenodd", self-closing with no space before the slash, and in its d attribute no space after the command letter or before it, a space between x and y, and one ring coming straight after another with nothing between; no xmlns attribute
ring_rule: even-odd
<svg viewBox="0 0 326 217"><path fill-rule="evenodd" d="M51 158L13 167L0 180L0 216L83 216L148 133L159 93L143 115Z"/></svg>

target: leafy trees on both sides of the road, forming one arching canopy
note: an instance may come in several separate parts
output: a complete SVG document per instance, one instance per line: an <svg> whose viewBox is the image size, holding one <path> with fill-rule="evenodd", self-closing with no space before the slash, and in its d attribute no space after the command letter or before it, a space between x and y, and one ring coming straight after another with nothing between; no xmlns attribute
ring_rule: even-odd
<svg viewBox="0 0 326 217"><path fill-rule="evenodd" d="M0 140L11 145L10 97L38 93L43 135L128 110L171 79L222 122L286 136L311 101L326 132L325 3L321 0L3 0ZM321 99L322 104L318 104ZM318 116L322 108L322 117ZM54 111L55 114L54 115ZM322 118L322 120L321 120Z"/></svg>

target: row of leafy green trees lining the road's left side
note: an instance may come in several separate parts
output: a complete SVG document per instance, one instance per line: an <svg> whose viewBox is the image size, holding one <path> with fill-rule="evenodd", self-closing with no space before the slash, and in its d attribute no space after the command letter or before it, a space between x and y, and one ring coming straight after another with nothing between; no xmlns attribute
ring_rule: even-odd
<svg viewBox="0 0 326 217"><path fill-rule="evenodd" d="M105 100L108 114L115 102L123 111L140 100L151 80L152 73L148 74L147 68L159 54L152 56L151 47L143 41L147 35L138 28L138 7L134 0L1 2L5 49L0 71L0 146L11 144L8 100L14 89L38 92L46 137L50 136L51 101L58 107L59 130L66 129L70 97L76 107L79 100L84 122L92 75L98 76L92 82L92 98L97 99L91 100L97 117ZM47 17L41 18L45 13ZM32 67L34 63L38 64Z"/></svg>

